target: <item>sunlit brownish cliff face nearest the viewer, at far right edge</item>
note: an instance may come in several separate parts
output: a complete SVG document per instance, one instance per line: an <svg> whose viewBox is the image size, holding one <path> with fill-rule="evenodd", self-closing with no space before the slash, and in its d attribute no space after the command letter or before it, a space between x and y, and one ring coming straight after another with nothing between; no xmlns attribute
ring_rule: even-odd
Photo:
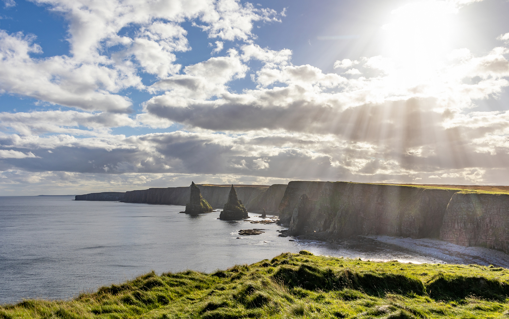
<svg viewBox="0 0 509 319"><path fill-rule="evenodd" d="M453 195L440 239L509 253L509 195L459 192Z"/></svg>

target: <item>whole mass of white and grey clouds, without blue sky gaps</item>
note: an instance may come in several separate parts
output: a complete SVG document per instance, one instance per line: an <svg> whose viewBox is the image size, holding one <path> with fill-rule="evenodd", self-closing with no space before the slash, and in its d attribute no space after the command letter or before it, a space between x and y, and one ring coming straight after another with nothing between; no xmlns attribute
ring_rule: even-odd
<svg viewBox="0 0 509 319"><path fill-rule="evenodd" d="M332 61L335 72L326 73L294 65L290 49L258 45L254 26L284 23L285 13L249 3L37 3L69 22L70 52L37 58L44 48L36 36L0 30L0 90L64 108L0 113L4 195L191 179L506 184L509 177L509 112L476 109L509 86L507 33L485 54L359 56ZM454 14L468 3L420 5ZM181 65L177 54L192 50L185 23L210 46L203 61ZM232 89L239 80L251 85ZM127 88L151 94L137 114ZM166 132L136 134L145 129Z"/></svg>

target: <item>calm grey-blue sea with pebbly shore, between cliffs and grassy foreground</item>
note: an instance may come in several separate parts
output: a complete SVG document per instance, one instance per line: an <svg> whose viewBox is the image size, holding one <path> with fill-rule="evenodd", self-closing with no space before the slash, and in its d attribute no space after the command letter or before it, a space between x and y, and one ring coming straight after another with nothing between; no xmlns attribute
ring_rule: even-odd
<svg viewBox="0 0 509 319"><path fill-rule="evenodd" d="M70 299L100 286L192 269L214 272L302 249L326 256L413 263L509 267L509 256L436 239L358 236L316 241L280 237L264 220L188 215L177 205L74 201L74 196L0 197L0 304L27 298ZM267 215L267 220L272 215ZM241 236L242 229L262 229Z"/></svg>

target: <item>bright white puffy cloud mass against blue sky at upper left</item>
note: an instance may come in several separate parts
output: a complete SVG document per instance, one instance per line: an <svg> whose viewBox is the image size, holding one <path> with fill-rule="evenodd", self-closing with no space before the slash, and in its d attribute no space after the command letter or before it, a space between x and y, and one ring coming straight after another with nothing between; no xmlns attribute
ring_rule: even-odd
<svg viewBox="0 0 509 319"><path fill-rule="evenodd" d="M108 0L40 0L69 22L69 55L44 59L34 36L0 30L0 93L89 111L130 112L131 101L119 94L144 89L139 71L165 78L179 72L175 51L190 50L185 20L202 23L212 38L250 41L256 21L279 21L270 9L235 0L177 0L126 3ZM131 35L120 35L124 27ZM217 42L217 52L221 41ZM120 49L108 56L109 48ZM36 56L36 55L35 55Z"/></svg>

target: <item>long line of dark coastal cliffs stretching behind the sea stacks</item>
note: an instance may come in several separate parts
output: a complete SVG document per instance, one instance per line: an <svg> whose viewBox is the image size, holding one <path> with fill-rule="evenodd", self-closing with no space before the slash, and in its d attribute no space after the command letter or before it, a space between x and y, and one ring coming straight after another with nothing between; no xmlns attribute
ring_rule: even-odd
<svg viewBox="0 0 509 319"><path fill-rule="evenodd" d="M288 226L287 236L323 240L356 235L440 238L463 246L509 252L509 194L502 186L501 193L494 193L493 186L490 192L484 192L483 186L322 181L195 186L211 207L224 205L220 219L247 218L247 211L273 212L278 203L273 213L279 216L279 224ZM234 199L230 199L232 190ZM121 201L185 205L189 196L190 187L150 188L126 192ZM76 200L119 198L122 193L76 196Z"/></svg>

